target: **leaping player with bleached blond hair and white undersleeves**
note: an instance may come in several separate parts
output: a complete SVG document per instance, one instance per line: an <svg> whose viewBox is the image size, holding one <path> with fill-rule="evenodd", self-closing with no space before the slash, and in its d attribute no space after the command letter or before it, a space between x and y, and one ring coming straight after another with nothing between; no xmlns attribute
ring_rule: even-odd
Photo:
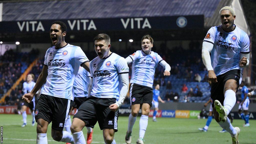
<svg viewBox="0 0 256 144"><path fill-rule="evenodd" d="M240 129L233 127L227 115L236 103L236 92L242 81L242 68L249 65L250 40L234 24L234 10L225 6L219 12L221 25L211 27L202 44L202 60L211 83L213 114L218 124L228 131L232 143L238 144ZM211 53L211 56L210 56Z"/></svg>

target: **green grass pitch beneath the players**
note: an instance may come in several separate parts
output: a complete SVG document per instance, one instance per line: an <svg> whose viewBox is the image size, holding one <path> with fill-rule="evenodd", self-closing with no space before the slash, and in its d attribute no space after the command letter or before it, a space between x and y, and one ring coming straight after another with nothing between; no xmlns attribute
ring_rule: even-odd
<svg viewBox="0 0 256 144"><path fill-rule="evenodd" d="M31 116L28 115L28 125L24 128L21 115L0 115L0 126L3 126L4 144L35 144L36 143L36 125L31 126ZM132 143L138 139L139 120L137 118L132 132ZM201 132L198 128L205 126L207 119L178 119L178 118L157 118L153 122L152 118L148 120L148 127L145 134L145 144L231 144L229 133L219 133L222 130L213 119L208 132ZM125 143L124 137L127 130L128 117L119 117L118 132L115 133L115 141L118 144ZM234 120L233 126L239 127L240 144L256 144L256 120L250 120L250 127L242 127L243 120ZM83 129L87 137L87 129ZM51 138L51 124L47 131L48 144L63 143L54 141ZM98 124L95 125L93 133L93 143L104 143L102 131Z"/></svg>

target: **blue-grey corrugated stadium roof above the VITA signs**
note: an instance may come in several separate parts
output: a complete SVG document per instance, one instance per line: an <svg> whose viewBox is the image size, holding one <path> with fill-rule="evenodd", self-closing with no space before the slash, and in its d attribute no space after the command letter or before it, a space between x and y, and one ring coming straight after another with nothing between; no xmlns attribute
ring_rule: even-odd
<svg viewBox="0 0 256 144"><path fill-rule="evenodd" d="M220 0L68 0L3 3L3 21L204 15Z"/></svg>

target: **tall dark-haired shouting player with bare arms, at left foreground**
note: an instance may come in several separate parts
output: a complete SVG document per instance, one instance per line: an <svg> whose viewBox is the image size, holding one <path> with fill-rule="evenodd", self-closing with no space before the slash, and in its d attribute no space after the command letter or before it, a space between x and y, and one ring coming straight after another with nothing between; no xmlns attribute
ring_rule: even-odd
<svg viewBox="0 0 256 144"><path fill-rule="evenodd" d="M35 93L41 88L40 97L35 108L37 122L37 144L47 144L47 128L50 122L51 136L60 142L73 143L72 135L63 131L74 99L73 83L82 66L87 71L89 60L83 50L65 42L67 26L61 21L55 21L50 28L52 47L45 54L44 67L35 87L22 96L30 102Z"/></svg>

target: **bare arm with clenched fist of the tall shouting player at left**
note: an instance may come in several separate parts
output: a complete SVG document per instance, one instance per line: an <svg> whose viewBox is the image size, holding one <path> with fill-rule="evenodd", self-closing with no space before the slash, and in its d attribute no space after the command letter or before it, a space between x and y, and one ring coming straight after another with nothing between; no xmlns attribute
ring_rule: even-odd
<svg viewBox="0 0 256 144"><path fill-rule="evenodd" d="M42 85L45 83L46 81L46 78L48 76L48 66L45 66L43 67L42 69L42 72L40 73L37 81L36 81L36 84L35 84L35 87L31 90L31 92L27 93L27 94L24 94L22 96L22 99L25 101L25 102L30 102L34 95L36 94L36 92L42 87Z"/></svg>

